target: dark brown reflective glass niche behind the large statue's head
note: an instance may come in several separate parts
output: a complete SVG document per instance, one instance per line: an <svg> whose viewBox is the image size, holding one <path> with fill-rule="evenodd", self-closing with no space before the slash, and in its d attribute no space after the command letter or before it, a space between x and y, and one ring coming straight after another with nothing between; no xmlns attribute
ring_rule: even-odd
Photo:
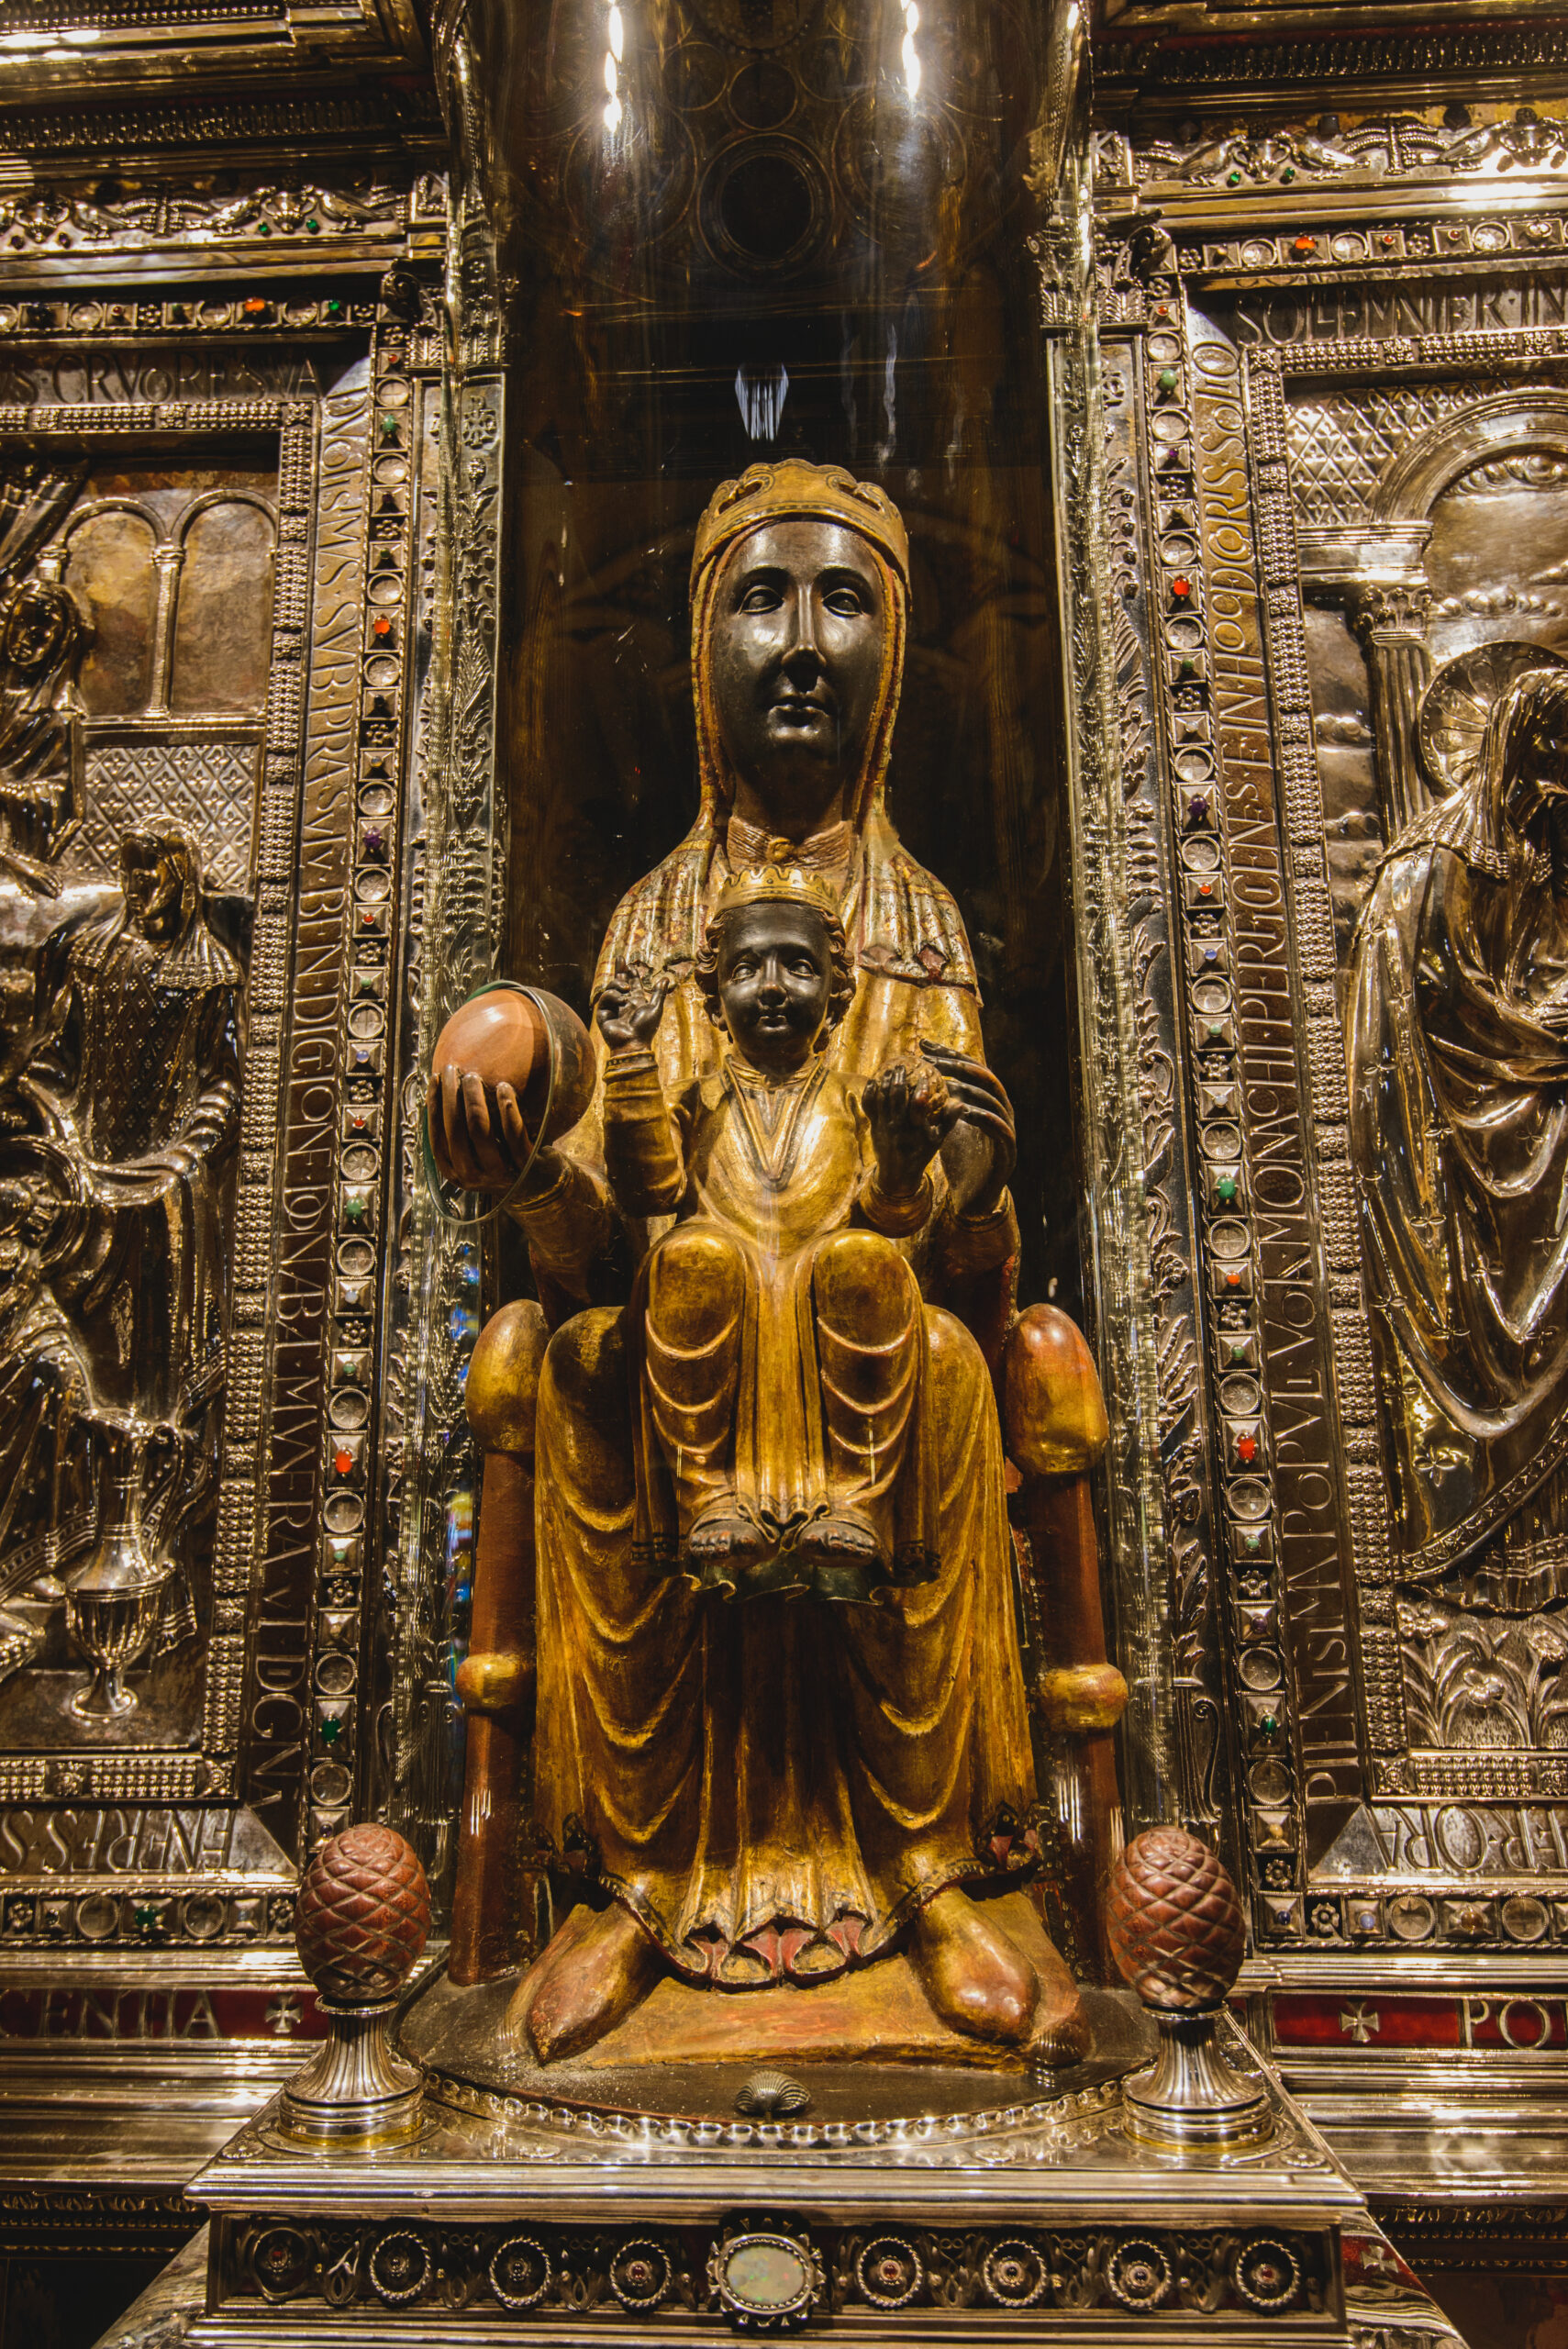
<svg viewBox="0 0 1568 2349"><path fill-rule="evenodd" d="M958 895L1026 1149L1023 1294L1080 1299L1035 167L1052 9L481 5L516 284L500 766L507 968L587 1012L695 815L688 568L716 482L871 474L911 531L890 810Z"/></svg>

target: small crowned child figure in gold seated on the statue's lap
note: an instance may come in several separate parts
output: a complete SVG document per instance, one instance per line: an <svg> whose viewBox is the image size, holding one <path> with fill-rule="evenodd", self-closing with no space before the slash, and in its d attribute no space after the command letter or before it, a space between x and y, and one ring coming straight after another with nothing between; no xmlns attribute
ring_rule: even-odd
<svg viewBox="0 0 1568 2349"><path fill-rule="evenodd" d="M674 1097L667 984L622 968L596 1008L615 1203L674 1217L631 1299L634 1555L728 1597L887 1600L937 1571L915 1261L958 1104L934 1062L829 1066L854 968L796 867L725 886L697 982L725 1050Z"/></svg>

